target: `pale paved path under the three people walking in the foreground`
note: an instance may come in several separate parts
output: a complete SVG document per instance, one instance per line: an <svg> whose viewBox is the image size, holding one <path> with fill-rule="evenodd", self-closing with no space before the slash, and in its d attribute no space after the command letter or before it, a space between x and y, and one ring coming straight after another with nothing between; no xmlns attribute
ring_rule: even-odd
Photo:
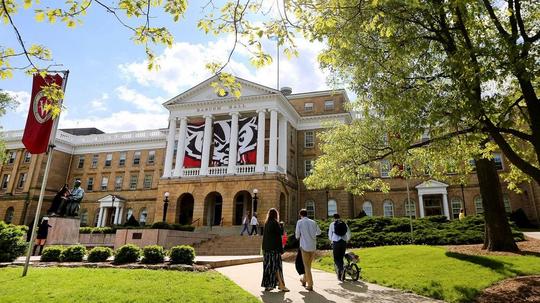
<svg viewBox="0 0 540 303"><path fill-rule="evenodd" d="M262 263L251 263L216 269L240 287L260 298L263 302L308 302L308 303L427 303L441 302L422 296L404 293L395 289L382 287L362 281L340 282L336 276L320 270L313 270L314 291L302 287L294 264L283 262L285 284L291 291L288 293L274 290L264 292L261 287Z"/></svg>

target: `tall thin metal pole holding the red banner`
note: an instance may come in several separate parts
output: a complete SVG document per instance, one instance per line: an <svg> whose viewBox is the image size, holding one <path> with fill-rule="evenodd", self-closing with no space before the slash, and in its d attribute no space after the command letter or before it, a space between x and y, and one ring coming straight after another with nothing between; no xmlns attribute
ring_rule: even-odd
<svg viewBox="0 0 540 303"><path fill-rule="evenodd" d="M61 71L64 73L64 79L62 80L62 91L65 93L66 91L66 83L69 75L69 70ZM63 100L59 102L59 106L62 106ZM45 195L45 187L47 186L47 178L49 177L49 169L51 167L52 162L52 155L54 151L54 141L56 140L56 131L58 130L58 123L60 121L60 114L58 114L58 117L54 120L54 126L51 132L51 139L49 139L49 146L47 148L47 164L45 165L45 173L43 174L43 181L41 182L41 190L39 192L39 200L38 205L36 209L36 215L34 216L34 225L32 225L31 229L31 236L30 236L30 245L28 247L28 252L26 253L26 261L24 262L24 269L22 276L25 277L26 273L28 272L28 264L30 263L30 256L32 254L32 251L34 250L34 240L36 238L36 227L39 222L39 216L41 213L41 206L43 204L43 196Z"/></svg>

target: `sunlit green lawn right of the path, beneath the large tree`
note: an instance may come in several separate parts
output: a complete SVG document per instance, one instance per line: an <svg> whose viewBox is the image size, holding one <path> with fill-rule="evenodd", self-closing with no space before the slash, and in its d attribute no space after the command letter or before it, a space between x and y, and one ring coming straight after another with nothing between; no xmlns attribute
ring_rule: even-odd
<svg viewBox="0 0 540 303"><path fill-rule="evenodd" d="M362 279L442 299L470 302L491 284L517 275L540 274L540 257L468 256L433 246L384 246L355 250ZM314 267L334 271L331 255Z"/></svg>

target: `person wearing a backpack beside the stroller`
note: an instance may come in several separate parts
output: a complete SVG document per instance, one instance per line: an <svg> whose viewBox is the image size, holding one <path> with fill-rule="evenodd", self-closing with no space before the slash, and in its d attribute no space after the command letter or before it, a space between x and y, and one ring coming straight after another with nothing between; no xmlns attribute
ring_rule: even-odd
<svg viewBox="0 0 540 303"><path fill-rule="evenodd" d="M343 270L343 257L347 249L347 241L351 239L351 230L349 226L340 219L339 214L334 214L334 222L328 228L328 238L332 242L332 252L334 254L334 267L338 280L345 280L345 271Z"/></svg>

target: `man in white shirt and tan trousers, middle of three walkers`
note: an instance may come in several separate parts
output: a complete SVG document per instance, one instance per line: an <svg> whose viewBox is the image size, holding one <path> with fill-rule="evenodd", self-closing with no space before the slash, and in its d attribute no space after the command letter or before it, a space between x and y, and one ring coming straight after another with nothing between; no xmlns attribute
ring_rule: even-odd
<svg viewBox="0 0 540 303"><path fill-rule="evenodd" d="M300 281L307 290L313 290L313 277L311 275L311 262L317 250L317 236L321 234L319 225L307 216L307 210L300 210L300 220L296 222L296 239L300 240L300 251L304 263L305 274Z"/></svg>

